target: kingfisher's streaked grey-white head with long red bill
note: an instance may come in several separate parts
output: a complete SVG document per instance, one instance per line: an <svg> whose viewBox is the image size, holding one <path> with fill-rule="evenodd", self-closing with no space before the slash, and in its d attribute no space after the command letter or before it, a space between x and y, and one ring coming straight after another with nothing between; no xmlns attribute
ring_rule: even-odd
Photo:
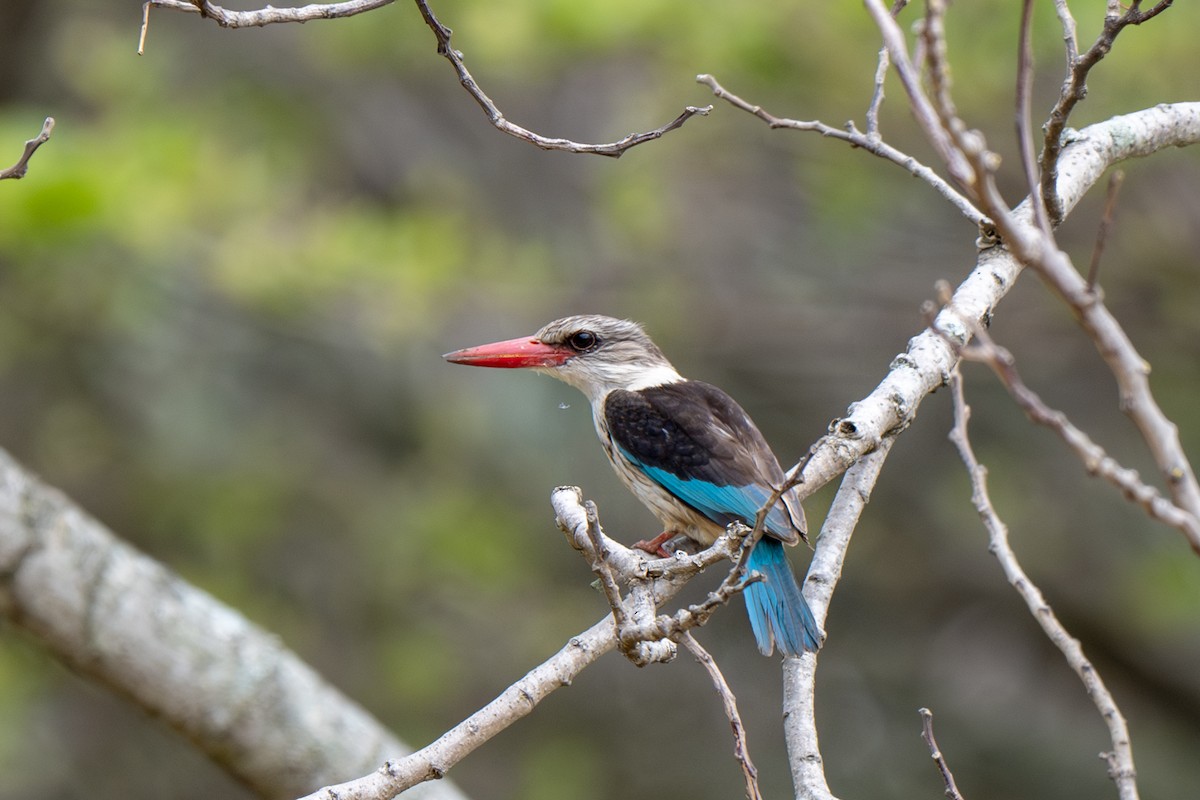
<svg viewBox="0 0 1200 800"><path fill-rule="evenodd" d="M596 401L614 389L682 380L642 326L624 319L564 317L533 336L481 344L443 356L473 367L524 367L558 378Z"/></svg>

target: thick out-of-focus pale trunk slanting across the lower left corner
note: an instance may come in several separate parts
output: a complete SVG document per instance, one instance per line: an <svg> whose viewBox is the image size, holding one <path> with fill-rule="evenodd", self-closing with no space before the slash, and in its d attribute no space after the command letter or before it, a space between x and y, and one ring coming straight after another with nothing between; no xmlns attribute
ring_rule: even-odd
<svg viewBox="0 0 1200 800"><path fill-rule="evenodd" d="M0 451L0 608L263 798L409 751L232 608L119 541ZM449 784L430 798L462 795Z"/></svg>

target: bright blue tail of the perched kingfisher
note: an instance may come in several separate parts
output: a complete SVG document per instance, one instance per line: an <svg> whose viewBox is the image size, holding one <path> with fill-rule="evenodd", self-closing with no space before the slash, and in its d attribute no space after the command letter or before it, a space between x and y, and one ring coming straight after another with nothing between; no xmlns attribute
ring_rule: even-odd
<svg viewBox="0 0 1200 800"><path fill-rule="evenodd" d="M760 539L750 551L746 569L766 578L751 583L744 593L750 627L762 654L769 656L776 644L785 656L816 652L821 646L821 631L796 584L784 543L770 536Z"/></svg>

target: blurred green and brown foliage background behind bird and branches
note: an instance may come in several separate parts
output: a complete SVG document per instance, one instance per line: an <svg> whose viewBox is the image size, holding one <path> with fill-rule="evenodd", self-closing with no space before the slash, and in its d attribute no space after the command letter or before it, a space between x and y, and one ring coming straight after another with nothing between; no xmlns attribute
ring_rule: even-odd
<svg viewBox="0 0 1200 800"><path fill-rule="evenodd" d="M1080 40L1103 2L1074 2ZM239 7L252 7L242 5ZM857 4L445 0L509 119L610 142L714 102L841 125L871 94ZM906 12L910 22L916 10ZM1063 76L1038 4L1036 116ZM1004 157L1018 11L949 18L962 114ZM565 385L440 354L599 312L638 319L792 464L866 395L956 283L976 231L902 170L718 103L619 161L494 131L416 10L222 30L115 0L0 5L0 446L119 535L245 612L413 746L605 613L554 528L576 483L613 536L658 533ZM1122 35L1074 122L1196 100L1200 8ZM883 132L928 158L899 86ZM1127 166L1106 297L1200 455L1200 152ZM1103 191L1062 242L1086 266ZM1111 377L1026 276L996 338L1045 401L1153 476ZM1200 784L1200 560L1088 479L982 367L973 434L1018 554L1129 718L1146 796ZM856 534L821 657L833 790L940 796L919 706L973 800L1100 798L1105 728L988 554L946 440L948 392L898 443ZM809 505L818 525L828 487ZM806 553L796 552L800 567ZM718 576L712 576L712 583ZM702 582L703 583L703 582ZM706 584L707 585L707 584ZM697 591L700 589L697 588ZM700 638L738 694L768 796L791 792L779 664L740 608ZM610 654L470 756L474 798L742 796L728 726L688 657ZM158 722L0 633L0 798L242 798Z"/></svg>

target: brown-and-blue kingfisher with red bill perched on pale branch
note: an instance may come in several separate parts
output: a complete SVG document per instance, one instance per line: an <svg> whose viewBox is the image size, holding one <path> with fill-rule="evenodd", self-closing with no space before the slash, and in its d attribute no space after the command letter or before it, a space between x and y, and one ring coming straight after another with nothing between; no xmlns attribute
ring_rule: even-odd
<svg viewBox="0 0 1200 800"><path fill-rule="evenodd" d="M474 367L528 368L582 391L608 462L664 531L635 545L666 555L684 535L708 547L727 525L754 528L786 477L762 433L724 391L680 375L637 323L599 314L556 319L533 336L443 356ZM752 543L746 567L762 576L745 591L758 650L815 652L817 627L784 545L808 542L794 487L784 492Z"/></svg>

